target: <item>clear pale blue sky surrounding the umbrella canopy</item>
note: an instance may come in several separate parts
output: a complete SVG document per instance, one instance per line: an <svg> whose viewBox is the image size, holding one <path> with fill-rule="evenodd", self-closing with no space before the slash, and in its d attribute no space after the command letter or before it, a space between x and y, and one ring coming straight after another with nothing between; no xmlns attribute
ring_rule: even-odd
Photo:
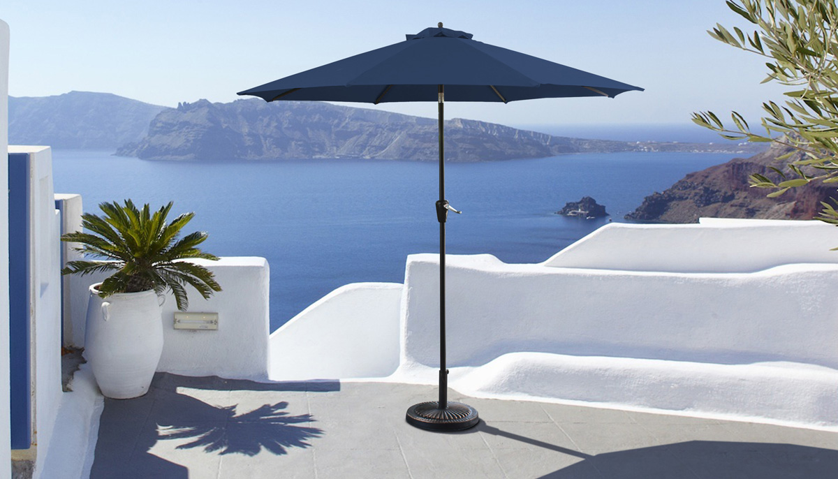
<svg viewBox="0 0 838 479"><path fill-rule="evenodd" d="M474 39L639 85L616 99L452 103L447 116L508 125L688 123L692 111L760 115L777 86L757 57L713 40L741 24L724 0L6 0L9 95L106 91L175 106L403 40L445 23ZM737 19L738 18L738 19ZM391 111L435 116L427 104Z"/></svg>

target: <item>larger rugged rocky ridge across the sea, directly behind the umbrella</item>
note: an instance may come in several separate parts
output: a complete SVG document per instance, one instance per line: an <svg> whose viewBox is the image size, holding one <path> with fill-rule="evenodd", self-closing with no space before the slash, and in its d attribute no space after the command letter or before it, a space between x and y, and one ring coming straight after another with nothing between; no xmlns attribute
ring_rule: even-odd
<svg viewBox="0 0 838 479"><path fill-rule="evenodd" d="M437 121L320 102L199 100L161 111L142 141L116 154L153 160L371 158L437 160ZM725 149L727 148L727 149ZM736 145L609 142L551 136L484 121L445 124L454 162L551 157L577 152L737 151Z"/></svg>

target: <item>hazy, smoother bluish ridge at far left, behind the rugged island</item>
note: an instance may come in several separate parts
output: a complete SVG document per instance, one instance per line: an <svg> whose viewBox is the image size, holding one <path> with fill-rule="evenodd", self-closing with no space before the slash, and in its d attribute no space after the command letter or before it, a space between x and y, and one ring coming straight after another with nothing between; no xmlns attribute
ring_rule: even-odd
<svg viewBox="0 0 838 479"><path fill-rule="evenodd" d="M146 136L149 121L163 109L163 106L90 91L70 91L55 96L10 96L8 142L112 150Z"/></svg>

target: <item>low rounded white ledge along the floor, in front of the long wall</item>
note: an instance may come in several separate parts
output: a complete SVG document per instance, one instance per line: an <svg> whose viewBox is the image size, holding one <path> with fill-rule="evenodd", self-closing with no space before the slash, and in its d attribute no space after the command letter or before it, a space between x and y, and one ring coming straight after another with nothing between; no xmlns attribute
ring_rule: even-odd
<svg viewBox="0 0 838 479"><path fill-rule="evenodd" d="M838 371L810 364L510 353L458 372L451 387L480 398L597 405L838 432Z"/></svg>

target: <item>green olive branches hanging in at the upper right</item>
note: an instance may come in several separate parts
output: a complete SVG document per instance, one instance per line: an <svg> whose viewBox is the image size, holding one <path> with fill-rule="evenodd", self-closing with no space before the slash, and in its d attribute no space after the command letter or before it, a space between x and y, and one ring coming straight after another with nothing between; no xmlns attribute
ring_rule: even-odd
<svg viewBox="0 0 838 479"><path fill-rule="evenodd" d="M745 118L733 111L732 127L727 127L712 111L692 114L696 124L735 141L775 142L796 153L779 160L798 178L774 183L754 174L750 184L770 188L777 197L789 188L813 181L838 183L838 7L835 0L728 0L727 7L753 25L753 32L734 27L733 33L716 23L711 37L757 54L766 60L765 82L792 87L784 95L784 105L763 103L764 116L753 131ZM804 172L801 167L806 167ZM807 175L813 173L815 175ZM838 224L838 214L828 203L821 220Z"/></svg>

